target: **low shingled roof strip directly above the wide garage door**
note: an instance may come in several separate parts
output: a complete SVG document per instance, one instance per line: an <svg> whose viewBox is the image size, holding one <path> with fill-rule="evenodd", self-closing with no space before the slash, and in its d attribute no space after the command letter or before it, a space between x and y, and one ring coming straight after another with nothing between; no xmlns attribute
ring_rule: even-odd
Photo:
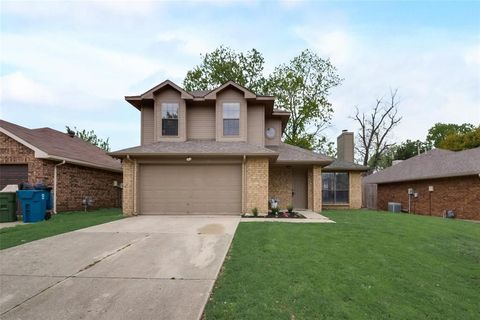
<svg viewBox="0 0 480 320"><path fill-rule="evenodd" d="M189 140L185 142L155 142L110 153L114 157L127 155L206 155L206 156L271 156L277 153L245 142L218 142L214 140Z"/></svg>

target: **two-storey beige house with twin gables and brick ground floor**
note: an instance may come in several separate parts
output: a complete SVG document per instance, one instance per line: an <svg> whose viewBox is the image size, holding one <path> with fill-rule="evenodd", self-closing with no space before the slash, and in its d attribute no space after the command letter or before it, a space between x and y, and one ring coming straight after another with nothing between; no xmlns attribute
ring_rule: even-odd
<svg viewBox="0 0 480 320"><path fill-rule="evenodd" d="M348 161L353 134L339 137L351 138L347 161L284 144L290 114L272 96L232 81L187 92L167 80L125 99L141 111L141 145L111 153L123 163L126 215L267 212L270 198L321 211L323 168L329 205L361 206L366 168Z"/></svg>

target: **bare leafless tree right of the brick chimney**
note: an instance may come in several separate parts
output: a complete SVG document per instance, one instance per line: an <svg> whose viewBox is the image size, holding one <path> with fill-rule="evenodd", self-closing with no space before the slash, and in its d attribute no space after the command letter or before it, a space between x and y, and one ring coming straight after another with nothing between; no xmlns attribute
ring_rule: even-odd
<svg viewBox="0 0 480 320"><path fill-rule="evenodd" d="M378 162L381 156L394 144L388 142L389 135L402 117L398 114L397 92L390 92L390 99L377 99L375 106L369 114L360 113L356 107L355 116L352 118L358 122L360 129L356 151L362 158L364 166L370 166L373 169L378 168Z"/></svg>

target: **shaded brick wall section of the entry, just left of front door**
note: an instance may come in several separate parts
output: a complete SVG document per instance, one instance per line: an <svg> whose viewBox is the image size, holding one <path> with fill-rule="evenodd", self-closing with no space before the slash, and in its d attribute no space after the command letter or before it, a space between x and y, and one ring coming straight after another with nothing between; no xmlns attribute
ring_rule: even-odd
<svg viewBox="0 0 480 320"><path fill-rule="evenodd" d="M270 166L268 176L268 198L276 198L280 209L292 204L293 169L287 166Z"/></svg>

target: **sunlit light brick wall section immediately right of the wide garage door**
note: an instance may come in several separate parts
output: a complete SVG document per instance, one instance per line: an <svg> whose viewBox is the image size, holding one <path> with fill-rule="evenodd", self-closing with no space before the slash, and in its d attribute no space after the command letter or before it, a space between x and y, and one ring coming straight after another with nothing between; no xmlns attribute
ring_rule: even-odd
<svg viewBox="0 0 480 320"><path fill-rule="evenodd" d="M245 163L246 173L246 206L250 212L257 208L259 212L268 211L268 159L247 158Z"/></svg>

